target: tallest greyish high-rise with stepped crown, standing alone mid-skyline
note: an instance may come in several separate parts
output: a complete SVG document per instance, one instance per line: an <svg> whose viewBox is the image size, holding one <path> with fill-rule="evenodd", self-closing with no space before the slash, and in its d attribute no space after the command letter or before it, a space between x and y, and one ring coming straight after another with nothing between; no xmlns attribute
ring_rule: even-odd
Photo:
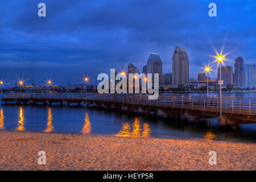
<svg viewBox="0 0 256 182"><path fill-rule="evenodd" d="M184 85L189 82L189 60L185 48L175 47L172 56L172 85Z"/></svg>

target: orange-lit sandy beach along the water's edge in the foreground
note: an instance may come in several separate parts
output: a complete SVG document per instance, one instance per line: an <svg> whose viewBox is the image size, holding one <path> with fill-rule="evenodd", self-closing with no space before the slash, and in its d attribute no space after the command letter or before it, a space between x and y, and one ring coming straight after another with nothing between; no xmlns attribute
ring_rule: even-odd
<svg viewBox="0 0 256 182"><path fill-rule="evenodd" d="M0 170L255 170L256 144L0 131ZM46 165L38 152L46 152ZM216 151L217 164L208 163Z"/></svg>

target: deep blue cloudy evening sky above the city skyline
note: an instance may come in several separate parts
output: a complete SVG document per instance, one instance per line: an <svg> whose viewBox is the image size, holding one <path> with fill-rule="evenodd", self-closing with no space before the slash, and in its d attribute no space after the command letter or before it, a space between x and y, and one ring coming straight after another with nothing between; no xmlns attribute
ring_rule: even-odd
<svg viewBox="0 0 256 182"><path fill-rule="evenodd" d="M38 4L46 3L46 17ZM208 5L217 5L217 17ZM12 86L27 83L81 83L83 75L96 84L98 73L135 64L140 72L150 52L160 54L163 73L171 73L175 46L187 49L189 75L197 78L214 48L233 65L243 56L256 61L256 2L237 0L1 0L0 78ZM216 77L213 64L212 77Z"/></svg>

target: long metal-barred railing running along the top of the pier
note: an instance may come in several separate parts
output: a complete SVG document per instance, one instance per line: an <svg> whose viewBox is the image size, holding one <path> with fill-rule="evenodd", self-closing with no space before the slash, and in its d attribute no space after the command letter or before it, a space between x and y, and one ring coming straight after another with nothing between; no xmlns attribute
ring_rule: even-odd
<svg viewBox="0 0 256 182"><path fill-rule="evenodd" d="M201 111L220 111L219 97L159 96L148 100L140 94L2 94L2 101L99 102L155 106ZM222 97L222 113L256 115L255 97Z"/></svg>

